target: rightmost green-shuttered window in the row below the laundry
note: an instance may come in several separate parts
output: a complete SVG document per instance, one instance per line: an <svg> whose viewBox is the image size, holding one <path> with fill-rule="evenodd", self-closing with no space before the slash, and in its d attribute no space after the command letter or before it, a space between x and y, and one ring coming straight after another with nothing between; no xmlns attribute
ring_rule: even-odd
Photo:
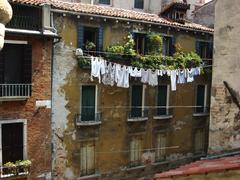
<svg viewBox="0 0 240 180"><path fill-rule="evenodd" d="M197 85L196 113L207 112L207 85Z"/></svg>

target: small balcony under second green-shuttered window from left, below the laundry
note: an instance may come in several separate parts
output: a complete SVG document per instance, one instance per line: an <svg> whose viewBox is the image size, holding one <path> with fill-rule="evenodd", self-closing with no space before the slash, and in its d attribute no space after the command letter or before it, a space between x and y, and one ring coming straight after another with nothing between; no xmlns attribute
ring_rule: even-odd
<svg viewBox="0 0 240 180"><path fill-rule="evenodd" d="M148 109L132 108L128 111L128 122L139 122L148 120Z"/></svg>

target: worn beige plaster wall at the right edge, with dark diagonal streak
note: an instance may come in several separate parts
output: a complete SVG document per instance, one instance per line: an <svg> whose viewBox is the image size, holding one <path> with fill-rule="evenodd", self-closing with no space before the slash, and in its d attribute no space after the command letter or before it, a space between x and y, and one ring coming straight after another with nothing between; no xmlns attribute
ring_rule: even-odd
<svg viewBox="0 0 240 180"><path fill-rule="evenodd" d="M216 2L210 153L240 148L239 109L223 84L226 81L239 100L239 13L238 0Z"/></svg>

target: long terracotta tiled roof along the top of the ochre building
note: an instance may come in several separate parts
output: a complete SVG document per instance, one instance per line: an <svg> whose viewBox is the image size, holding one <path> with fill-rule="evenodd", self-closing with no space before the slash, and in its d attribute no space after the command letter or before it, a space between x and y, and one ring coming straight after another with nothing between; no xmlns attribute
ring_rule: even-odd
<svg viewBox="0 0 240 180"><path fill-rule="evenodd" d="M200 24L186 22L185 24L177 23L159 17L157 14L144 13L139 11L114 8L110 6L99 6L85 3L63 2L58 0L10 0L10 2L41 6L43 4L50 4L53 9L65 10L67 12L84 13L87 15L109 16L115 18L124 18L129 20L144 21L147 23L157 23L159 25L173 26L177 28L184 28L195 31L204 31L213 33L213 29L205 27Z"/></svg>

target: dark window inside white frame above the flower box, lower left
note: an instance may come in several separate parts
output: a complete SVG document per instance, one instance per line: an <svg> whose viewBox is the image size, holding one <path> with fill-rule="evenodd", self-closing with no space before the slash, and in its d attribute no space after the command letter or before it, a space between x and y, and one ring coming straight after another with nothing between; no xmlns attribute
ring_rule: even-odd
<svg viewBox="0 0 240 180"><path fill-rule="evenodd" d="M2 164L23 160L23 123L1 124ZM14 133L11 133L14 132Z"/></svg>

